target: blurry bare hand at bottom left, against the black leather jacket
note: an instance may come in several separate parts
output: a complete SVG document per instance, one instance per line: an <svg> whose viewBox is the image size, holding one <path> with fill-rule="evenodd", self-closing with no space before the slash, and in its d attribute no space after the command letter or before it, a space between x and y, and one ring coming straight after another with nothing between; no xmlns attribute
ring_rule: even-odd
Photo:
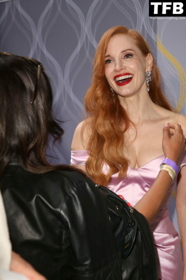
<svg viewBox="0 0 186 280"><path fill-rule="evenodd" d="M26 262L15 252L12 252L10 270L21 273L27 276L30 280L47 280L44 276L38 273L30 263Z"/></svg>

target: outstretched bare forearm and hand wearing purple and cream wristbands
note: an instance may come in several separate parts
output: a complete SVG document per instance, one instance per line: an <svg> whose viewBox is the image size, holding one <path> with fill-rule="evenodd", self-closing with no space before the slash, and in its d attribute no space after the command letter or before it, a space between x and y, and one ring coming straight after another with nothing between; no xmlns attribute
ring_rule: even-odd
<svg viewBox="0 0 186 280"><path fill-rule="evenodd" d="M180 125L175 123L168 123L168 125L173 128L171 130L174 134L170 137L169 126L163 128L163 152L165 157L178 164L180 155L185 149L185 138L183 137ZM171 183L172 179L168 174L168 171L161 170L151 188L134 207L147 218L149 223L152 223L156 214L161 209Z"/></svg>

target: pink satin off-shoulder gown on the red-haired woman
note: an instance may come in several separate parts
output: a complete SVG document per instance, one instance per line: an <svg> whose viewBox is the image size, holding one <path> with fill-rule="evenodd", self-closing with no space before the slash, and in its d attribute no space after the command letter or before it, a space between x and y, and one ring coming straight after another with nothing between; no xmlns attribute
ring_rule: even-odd
<svg viewBox="0 0 186 280"><path fill-rule="evenodd" d="M71 151L71 163L85 165L88 156L87 151ZM118 179L118 174L114 174L107 188L118 195L122 195L132 206L135 206L153 184L164 158L165 156L161 155L138 169L128 167L125 179ZM183 165L186 165L186 153L180 159L180 169ZM106 173L108 168L105 164L103 172ZM169 219L167 208L174 190L175 181L176 179L171 185L161 210L151 224L158 254L159 279L161 280L183 280L184 263L182 262L179 235Z"/></svg>

